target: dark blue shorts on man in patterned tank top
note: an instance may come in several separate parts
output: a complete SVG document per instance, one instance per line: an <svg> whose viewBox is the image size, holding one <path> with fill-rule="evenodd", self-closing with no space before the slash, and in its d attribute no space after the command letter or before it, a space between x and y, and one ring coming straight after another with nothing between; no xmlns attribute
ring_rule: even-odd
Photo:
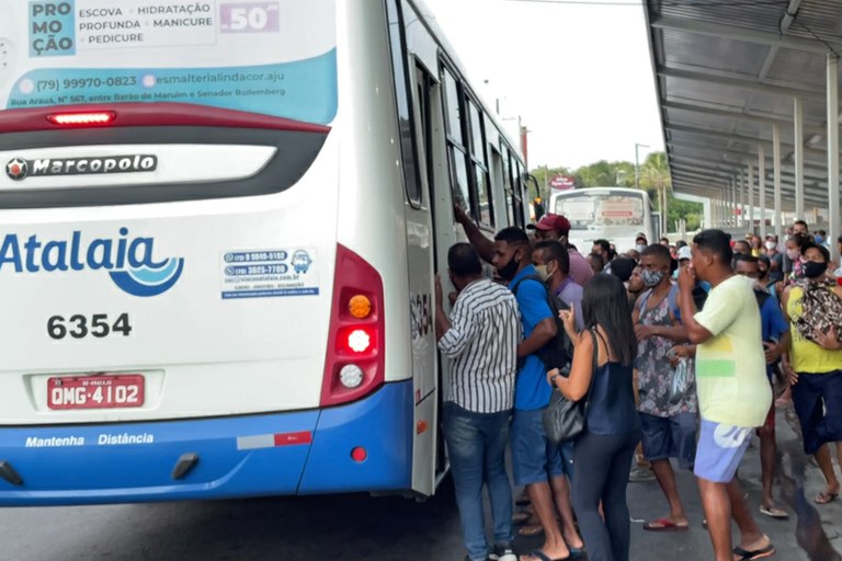
<svg viewBox="0 0 842 561"><path fill-rule="evenodd" d="M640 413L644 457L649 461L676 458L681 469L692 470L696 460L696 414L656 416Z"/></svg>

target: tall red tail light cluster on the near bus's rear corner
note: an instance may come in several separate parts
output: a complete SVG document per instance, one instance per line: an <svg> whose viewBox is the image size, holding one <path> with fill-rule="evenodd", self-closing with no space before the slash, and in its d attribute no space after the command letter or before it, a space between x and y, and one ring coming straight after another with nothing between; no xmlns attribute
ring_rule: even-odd
<svg viewBox="0 0 842 561"><path fill-rule="evenodd" d="M383 385L384 331L379 273L338 245L322 407L355 401Z"/></svg>

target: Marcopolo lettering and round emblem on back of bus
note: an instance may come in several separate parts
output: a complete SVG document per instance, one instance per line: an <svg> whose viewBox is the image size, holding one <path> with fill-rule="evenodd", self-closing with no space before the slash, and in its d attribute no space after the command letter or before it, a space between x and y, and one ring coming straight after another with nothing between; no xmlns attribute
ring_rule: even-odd
<svg viewBox="0 0 842 561"><path fill-rule="evenodd" d="M151 154L95 156L90 158L13 158L5 164L5 174L14 181L53 175L102 175L111 173L152 172L158 157Z"/></svg>

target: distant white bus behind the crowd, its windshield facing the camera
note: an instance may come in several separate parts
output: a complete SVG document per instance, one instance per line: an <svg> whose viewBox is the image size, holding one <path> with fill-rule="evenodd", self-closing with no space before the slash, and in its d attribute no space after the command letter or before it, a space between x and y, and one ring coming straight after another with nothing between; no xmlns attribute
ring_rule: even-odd
<svg viewBox="0 0 842 561"><path fill-rule="evenodd" d="M658 215L652 213L649 193L627 187L584 187L555 192L550 213L570 220L570 243L590 253L595 240L608 240L617 252L635 248L635 239L646 236L657 243L660 236Z"/></svg>

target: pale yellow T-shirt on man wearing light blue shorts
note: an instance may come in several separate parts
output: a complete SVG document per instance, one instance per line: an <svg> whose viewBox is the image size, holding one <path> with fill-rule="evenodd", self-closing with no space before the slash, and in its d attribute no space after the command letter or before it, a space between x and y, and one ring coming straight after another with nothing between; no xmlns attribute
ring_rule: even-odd
<svg viewBox="0 0 842 561"><path fill-rule="evenodd" d="M714 335L696 348L702 419L761 426L772 407L772 387L752 280L735 275L715 286L695 320Z"/></svg>

